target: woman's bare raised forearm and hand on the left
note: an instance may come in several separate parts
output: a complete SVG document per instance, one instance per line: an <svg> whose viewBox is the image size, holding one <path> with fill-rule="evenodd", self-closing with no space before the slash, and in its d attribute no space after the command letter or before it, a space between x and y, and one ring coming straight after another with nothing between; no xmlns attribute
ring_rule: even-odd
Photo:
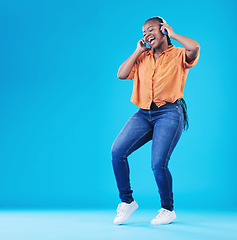
<svg viewBox="0 0 237 240"><path fill-rule="evenodd" d="M135 52L120 66L118 70L118 78L119 79L126 79L130 74L134 63L140 57L140 55L151 48L147 48L146 44L144 43L144 39L140 39L137 43L137 48Z"/></svg>

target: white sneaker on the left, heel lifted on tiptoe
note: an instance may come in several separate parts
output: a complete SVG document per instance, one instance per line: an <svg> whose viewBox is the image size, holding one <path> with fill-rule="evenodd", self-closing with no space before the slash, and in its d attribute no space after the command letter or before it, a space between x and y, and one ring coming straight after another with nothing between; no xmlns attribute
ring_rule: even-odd
<svg viewBox="0 0 237 240"><path fill-rule="evenodd" d="M131 203L121 202L116 210L117 216L114 219L114 224L123 224L137 208L135 200Z"/></svg>

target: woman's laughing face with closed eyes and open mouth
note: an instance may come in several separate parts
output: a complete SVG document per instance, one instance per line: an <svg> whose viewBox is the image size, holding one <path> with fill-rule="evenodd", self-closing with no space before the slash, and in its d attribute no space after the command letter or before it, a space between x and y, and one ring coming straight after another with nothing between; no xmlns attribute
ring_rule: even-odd
<svg viewBox="0 0 237 240"><path fill-rule="evenodd" d="M145 42L152 48L157 48L165 40L160 31L160 23L156 20L149 20L142 27Z"/></svg>

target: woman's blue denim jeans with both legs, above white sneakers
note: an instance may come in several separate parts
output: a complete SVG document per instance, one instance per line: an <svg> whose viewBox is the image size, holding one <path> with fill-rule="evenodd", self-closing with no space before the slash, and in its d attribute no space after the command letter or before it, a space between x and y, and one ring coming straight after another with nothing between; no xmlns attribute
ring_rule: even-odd
<svg viewBox="0 0 237 240"><path fill-rule="evenodd" d="M150 110L139 108L122 128L111 147L113 170L122 202L133 201L127 157L152 141L151 168L155 176L161 207L173 210L172 176L168 168L170 156L183 132L183 109L176 100Z"/></svg>

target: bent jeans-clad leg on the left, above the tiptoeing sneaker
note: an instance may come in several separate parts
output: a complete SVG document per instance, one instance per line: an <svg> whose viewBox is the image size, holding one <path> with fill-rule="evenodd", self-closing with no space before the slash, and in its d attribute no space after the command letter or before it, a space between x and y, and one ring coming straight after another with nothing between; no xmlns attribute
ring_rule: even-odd
<svg viewBox="0 0 237 240"><path fill-rule="evenodd" d="M111 147L113 170L122 202L133 201L127 157L152 139L153 125L139 111L124 125Z"/></svg>

